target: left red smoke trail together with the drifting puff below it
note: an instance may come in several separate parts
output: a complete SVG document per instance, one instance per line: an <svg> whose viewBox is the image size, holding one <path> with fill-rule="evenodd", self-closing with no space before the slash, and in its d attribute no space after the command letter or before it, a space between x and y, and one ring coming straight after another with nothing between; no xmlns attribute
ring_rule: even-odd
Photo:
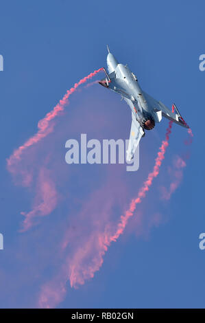
<svg viewBox="0 0 205 323"><path fill-rule="evenodd" d="M52 111L45 115L45 118L38 122L38 131L37 133L30 137L29 140L20 146L18 149L14 151L14 153L7 159L8 170L15 175L16 177L21 177L21 184L23 186L31 186L32 183L32 172L34 166L30 164L30 167L24 166L24 161L27 161L27 157L25 160L22 159L21 154L25 151L26 148L37 144L40 140L46 137L49 133L53 131L54 124L51 122L60 112L64 111L64 107L68 104L69 96L73 92L77 90L77 88L84 84L87 80L93 78L101 69L97 69L88 76L82 78L79 82L75 83L71 89L67 91L62 100L53 108ZM33 208L30 212L21 212L22 215L25 216L25 220L23 221L23 227L21 232L28 230L32 225L37 223L36 216L45 216L50 214L58 203L58 194L56 191L56 186L51 178L49 178L48 170L44 168L40 168L38 170L38 179L36 186L36 197L34 199Z"/></svg>

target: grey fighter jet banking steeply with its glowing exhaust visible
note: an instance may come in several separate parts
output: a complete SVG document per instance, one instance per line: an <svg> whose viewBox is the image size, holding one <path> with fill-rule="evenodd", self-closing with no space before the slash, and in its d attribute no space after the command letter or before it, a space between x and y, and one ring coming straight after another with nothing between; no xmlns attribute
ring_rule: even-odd
<svg viewBox="0 0 205 323"><path fill-rule="evenodd" d="M132 111L130 140L126 152L126 159L128 161L131 161L133 158L141 137L145 135L145 130L154 129L155 124L162 120L162 116L176 124L180 124L180 126L189 128L180 115L176 104L172 105L171 111L165 104L145 93L138 84L134 73L130 71L127 65L118 63L114 55L110 53L109 47L107 65L108 72L104 68L106 78L99 81L99 84L119 93L121 98L128 103Z"/></svg>

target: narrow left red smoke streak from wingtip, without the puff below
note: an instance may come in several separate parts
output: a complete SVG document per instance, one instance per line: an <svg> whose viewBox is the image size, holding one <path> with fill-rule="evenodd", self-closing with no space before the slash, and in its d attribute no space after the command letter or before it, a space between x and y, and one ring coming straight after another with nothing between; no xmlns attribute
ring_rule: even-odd
<svg viewBox="0 0 205 323"><path fill-rule="evenodd" d="M53 131L53 128L49 127L49 122L54 118L56 118L56 116L61 111L64 110L64 107L68 104L69 96L71 96L71 94L75 92L77 87L85 83L90 78L93 78L93 76L99 73L99 71L101 71L102 69L103 69L102 67L100 69L97 69L93 73L88 74L88 76L85 76L84 78L82 78L82 80L80 80L79 82L75 83L74 87L71 87L71 89L67 91L67 93L64 95L62 100L60 100L60 102L56 105L56 107L54 107L52 111L47 113L47 115L45 115L45 118L43 118L38 122L38 132L33 137L30 137L29 140L27 140L25 144L23 144L23 146L20 146L18 149L16 149L14 153L10 156L10 158L7 160L8 169L11 172L12 172L12 165L14 164L14 161L16 161L16 159L20 159L21 153L27 147L32 146L33 144L36 144L43 137L46 137L49 133L51 133L51 131Z"/></svg>

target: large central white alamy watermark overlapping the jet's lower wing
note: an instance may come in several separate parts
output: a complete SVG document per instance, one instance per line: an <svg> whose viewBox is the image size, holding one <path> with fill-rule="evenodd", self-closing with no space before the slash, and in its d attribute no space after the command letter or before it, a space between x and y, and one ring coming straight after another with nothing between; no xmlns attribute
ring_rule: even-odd
<svg viewBox="0 0 205 323"><path fill-rule="evenodd" d="M67 164L128 164L126 170L133 172L139 167L139 146L136 147L133 159L127 161L125 155L130 140L104 139L102 144L97 139L87 142L86 133L82 133L80 143L75 139L67 140L65 148L69 148L65 155ZM132 140L134 145L136 140ZM89 149L89 150L88 150Z"/></svg>

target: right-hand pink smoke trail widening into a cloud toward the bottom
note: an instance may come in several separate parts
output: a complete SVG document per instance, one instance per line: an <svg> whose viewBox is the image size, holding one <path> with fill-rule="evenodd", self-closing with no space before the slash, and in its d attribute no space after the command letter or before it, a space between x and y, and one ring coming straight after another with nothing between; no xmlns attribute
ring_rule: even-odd
<svg viewBox="0 0 205 323"><path fill-rule="evenodd" d="M125 212L125 215L121 216L117 229L112 230L111 223L107 223L106 228L103 231L94 232L84 245L77 248L73 257L67 256L64 266L60 270L60 275L54 278L47 285L43 286L40 293L39 306L40 307L55 307L58 301L62 301L65 296L64 286L69 278L71 287L77 287L77 285L84 284L85 280L93 278L96 271L99 270L104 262L104 254L108 250L108 247L112 241L117 241L117 238L123 234L128 220L134 215L136 204L141 203L146 192L152 185L152 181L158 176L162 160L165 158L165 152L169 145L169 135L171 134L172 122L169 122L167 128L165 140L162 141L162 145L159 148L158 156L155 161L154 169L149 173L147 180L143 184L142 188L138 192L136 199L133 199L130 203L130 208ZM189 132L190 134L190 132ZM179 167L183 167L183 163L178 163ZM158 221L158 219L157 219ZM114 233L113 233L114 232ZM65 243L65 245L64 245ZM64 241L63 249L67 245L68 241ZM93 250L94 249L94 250ZM94 252L94 254L93 254ZM88 264L89 263L89 264ZM62 284L63 288L59 291L56 285ZM55 296L55 297L53 297ZM42 302L43 300L43 302Z"/></svg>

